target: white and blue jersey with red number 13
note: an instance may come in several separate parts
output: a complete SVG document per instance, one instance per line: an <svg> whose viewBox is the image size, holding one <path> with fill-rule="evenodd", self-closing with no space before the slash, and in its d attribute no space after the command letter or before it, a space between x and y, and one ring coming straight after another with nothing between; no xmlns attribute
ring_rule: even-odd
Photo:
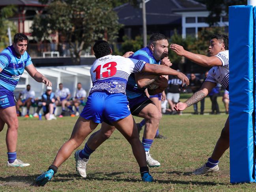
<svg viewBox="0 0 256 192"><path fill-rule="evenodd" d="M112 55L97 59L90 69L92 77L90 94L95 91L125 94L129 75L142 71L145 63L141 60Z"/></svg>

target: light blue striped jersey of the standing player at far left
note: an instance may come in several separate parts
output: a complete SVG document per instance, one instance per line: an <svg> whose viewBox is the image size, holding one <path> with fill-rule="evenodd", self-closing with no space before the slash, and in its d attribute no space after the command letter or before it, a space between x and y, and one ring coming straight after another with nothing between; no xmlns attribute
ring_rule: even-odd
<svg viewBox="0 0 256 192"><path fill-rule="evenodd" d="M24 68L30 64L32 61L26 51L21 55L21 58L17 58L12 45L5 48L0 53L0 67L3 69L0 73L0 86L13 91L24 72Z"/></svg>

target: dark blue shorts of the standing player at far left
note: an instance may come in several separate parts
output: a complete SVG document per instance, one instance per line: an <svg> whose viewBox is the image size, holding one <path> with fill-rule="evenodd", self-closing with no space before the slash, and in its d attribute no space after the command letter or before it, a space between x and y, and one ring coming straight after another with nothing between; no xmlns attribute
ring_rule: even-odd
<svg viewBox="0 0 256 192"><path fill-rule="evenodd" d="M15 106L15 99L13 92L0 87L0 109Z"/></svg>

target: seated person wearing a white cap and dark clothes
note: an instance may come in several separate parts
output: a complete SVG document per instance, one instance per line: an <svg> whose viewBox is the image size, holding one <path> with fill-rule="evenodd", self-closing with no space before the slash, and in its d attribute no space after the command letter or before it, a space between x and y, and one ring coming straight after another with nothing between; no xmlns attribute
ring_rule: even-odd
<svg viewBox="0 0 256 192"><path fill-rule="evenodd" d="M45 93L42 95L41 102L38 103L37 112L34 114L34 117L38 117L38 113L43 107L43 112L46 120L56 119L53 114L54 102L56 97L52 92L52 87L47 86Z"/></svg>

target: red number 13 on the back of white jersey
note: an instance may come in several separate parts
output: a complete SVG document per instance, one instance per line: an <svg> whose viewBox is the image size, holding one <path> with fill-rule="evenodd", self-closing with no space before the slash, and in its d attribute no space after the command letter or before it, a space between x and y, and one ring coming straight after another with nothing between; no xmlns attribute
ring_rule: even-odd
<svg viewBox="0 0 256 192"><path fill-rule="evenodd" d="M109 62L103 65L99 65L93 72L96 73L96 79L106 78L116 75L116 62ZM107 70L107 71L106 71Z"/></svg>

